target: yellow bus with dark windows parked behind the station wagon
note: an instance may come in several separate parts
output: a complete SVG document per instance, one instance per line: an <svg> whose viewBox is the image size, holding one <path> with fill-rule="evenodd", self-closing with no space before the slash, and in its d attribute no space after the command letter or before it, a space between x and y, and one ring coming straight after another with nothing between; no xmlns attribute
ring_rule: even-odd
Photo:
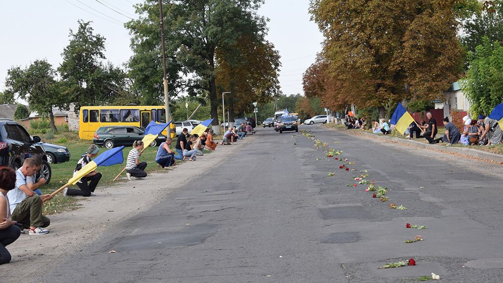
<svg viewBox="0 0 503 283"><path fill-rule="evenodd" d="M80 107L78 137L93 139L102 126L137 126L145 128L150 121L165 123L164 106L82 106ZM171 137L176 137L175 123L170 124ZM166 130L162 132L166 135Z"/></svg>

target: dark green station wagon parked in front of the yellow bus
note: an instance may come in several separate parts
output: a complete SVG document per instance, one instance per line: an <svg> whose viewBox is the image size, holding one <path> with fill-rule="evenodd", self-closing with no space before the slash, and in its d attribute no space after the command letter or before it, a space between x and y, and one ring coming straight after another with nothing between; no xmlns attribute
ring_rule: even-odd
<svg viewBox="0 0 503 283"><path fill-rule="evenodd" d="M93 143L97 146L111 149L115 146L131 147L135 140L141 140L145 134L143 128L135 126L106 126L99 127L95 132ZM166 136L159 134L159 136L150 144L155 147L162 142L165 142Z"/></svg>

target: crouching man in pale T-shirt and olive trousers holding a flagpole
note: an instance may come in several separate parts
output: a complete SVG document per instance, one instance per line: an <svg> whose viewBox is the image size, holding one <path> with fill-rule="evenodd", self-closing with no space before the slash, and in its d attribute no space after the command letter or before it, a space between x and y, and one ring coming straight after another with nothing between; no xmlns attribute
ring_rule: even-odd
<svg viewBox="0 0 503 283"><path fill-rule="evenodd" d="M25 159L23 166L16 171L16 187L7 193L10 201L12 220L30 229L30 235L43 235L49 230L43 229L51 221L42 215L44 201L52 198L50 194L38 195L26 184L26 177L37 172L38 163L32 158Z"/></svg>

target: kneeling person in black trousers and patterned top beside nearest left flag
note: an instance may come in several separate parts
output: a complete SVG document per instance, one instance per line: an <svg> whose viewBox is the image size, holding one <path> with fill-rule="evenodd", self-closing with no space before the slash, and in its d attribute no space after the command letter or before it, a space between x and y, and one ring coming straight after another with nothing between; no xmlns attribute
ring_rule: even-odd
<svg viewBox="0 0 503 283"><path fill-rule="evenodd" d="M100 149L96 145L91 145L88 148L88 152L85 155L82 155L82 157L78 160L77 166L75 167L75 170L73 171L73 175L77 174L77 172L82 169L82 167L86 166L88 163L91 162L91 158L95 158L98 155L98 152ZM70 189L70 188L65 188L63 191L64 196L93 196L94 191L96 189L96 186L98 186L98 183L100 182L102 177L102 174L96 170L89 172L88 174L84 175L80 180L77 182L77 187L79 189ZM89 184L88 184L89 182Z"/></svg>

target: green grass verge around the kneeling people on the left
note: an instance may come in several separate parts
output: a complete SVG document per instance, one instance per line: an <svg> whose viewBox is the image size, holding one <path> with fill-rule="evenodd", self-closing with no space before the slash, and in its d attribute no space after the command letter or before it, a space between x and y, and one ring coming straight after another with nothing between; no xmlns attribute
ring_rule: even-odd
<svg viewBox="0 0 503 283"><path fill-rule="evenodd" d="M77 161L80 159L80 156L85 154L88 150L88 147L93 144L92 140L83 140L83 139L78 139L78 136L75 137L74 132L65 132L65 133L58 133L54 136L52 139L45 139L45 142L51 143L51 144L57 144L56 140L61 138L62 136L65 136L68 140L67 143L61 144L61 146L67 147L68 150L70 151L71 157L70 161L64 162L64 163L58 163L58 164L51 164L51 169L52 169L52 177L49 182L49 184L42 186L40 189L44 194L46 193L52 193L59 187L63 186L66 184L66 182L72 177L73 171L75 170L75 166L77 164ZM172 144L172 148L175 148L175 143ZM113 166L100 166L98 167L98 171L102 173L103 177L100 180L100 183L98 184L97 190L99 191L100 187L105 187L107 185L111 184L116 184L119 182L123 182L124 180L121 180L120 177L116 180L113 181L115 176L119 174L119 172L124 169L125 162L127 159L127 155L129 151L132 149L132 147L126 147L123 150L123 156L124 156L124 162L122 164L117 164ZM100 153L103 153L106 149L100 148ZM142 153L140 160L141 161L146 161L148 163L147 168L145 169L145 172L150 173L150 172L157 172L157 171L163 171L166 172L166 169L160 169L155 165L155 155L157 153L157 147L148 147L145 149L145 151ZM211 151L204 150L204 154L209 154ZM180 161L177 160L177 165L184 163L185 161ZM125 177L125 173L122 173L122 177ZM76 188L76 185L70 186L70 188ZM53 199L50 201L46 202L44 204L44 214L49 215L49 214L57 214L61 213L62 211L65 210L72 210L78 208L80 205L78 203L78 200L81 198L74 198L74 197L64 197L63 193L58 193Z"/></svg>

